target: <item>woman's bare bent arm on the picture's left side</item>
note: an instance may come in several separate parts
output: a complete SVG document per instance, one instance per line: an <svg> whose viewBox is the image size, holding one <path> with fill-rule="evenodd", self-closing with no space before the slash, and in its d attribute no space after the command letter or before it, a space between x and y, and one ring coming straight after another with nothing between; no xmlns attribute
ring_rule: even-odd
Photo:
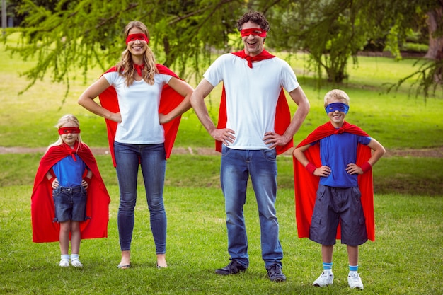
<svg viewBox="0 0 443 295"><path fill-rule="evenodd" d="M115 122L121 122L122 117L120 116L120 112L114 113L110 112L109 110L106 110L101 105L98 105L94 101L94 99L100 95L103 91L105 91L106 88L108 88L110 85L108 83L108 80L104 76L101 76L100 79L98 79L96 82L91 84L84 93L81 93L81 96L78 100L79 105L86 108L86 110L93 112L96 115L99 115L101 117L104 117L105 119L113 120Z"/></svg>

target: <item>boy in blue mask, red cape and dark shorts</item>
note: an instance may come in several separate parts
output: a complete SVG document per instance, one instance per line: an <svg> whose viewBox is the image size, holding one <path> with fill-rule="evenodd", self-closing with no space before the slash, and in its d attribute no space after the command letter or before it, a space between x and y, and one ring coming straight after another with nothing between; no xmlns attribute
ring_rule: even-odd
<svg viewBox="0 0 443 295"><path fill-rule="evenodd" d="M316 287L333 284L333 249L335 239L341 238L347 245L347 282L352 289L363 289L358 246L368 238L374 241L371 170L386 151L379 141L345 122L349 100L338 89L326 93L330 122L316 128L293 152L299 237L321 244L323 272L313 282Z"/></svg>

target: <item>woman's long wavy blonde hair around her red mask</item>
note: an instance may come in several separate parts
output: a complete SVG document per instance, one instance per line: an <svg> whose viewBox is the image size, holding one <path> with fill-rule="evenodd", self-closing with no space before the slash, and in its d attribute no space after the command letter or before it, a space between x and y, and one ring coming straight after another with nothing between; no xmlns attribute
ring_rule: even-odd
<svg viewBox="0 0 443 295"><path fill-rule="evenodd" d="M140 21L131 21L126 25L124 33L125 40L132 28L139 28L140 30L142 30L144 35L146 35L149 40L148 28L146 28L146 25L144 25L144 23ZM149 48L149 45L146 45L146 51L144 52L143 59L144 59L144 72L142 78L149 85L153 85L154 74L158 73L159 71L156 68L156 60L154 58L154 53L152 52L151 48ZM132 83L134 83L135 80L134 71L132 71L132 69L134 68L134 62L132 62L132 54L127 48L125 49L124 52L122 52L122 58L120 59L120 62L117 62L116 67L117 71L122 76L125 77L126 86L132 85Z"/></svg>

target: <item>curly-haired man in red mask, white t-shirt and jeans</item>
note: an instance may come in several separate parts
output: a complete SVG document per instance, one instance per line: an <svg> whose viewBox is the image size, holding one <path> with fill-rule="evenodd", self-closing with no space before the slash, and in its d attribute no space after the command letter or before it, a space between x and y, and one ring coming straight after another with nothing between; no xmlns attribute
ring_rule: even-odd
<svg viewBox="0 0 443 295"><path fill-rule="evenodd" d="M292 146L292 137L309 112L309 101L287 62L264 50L270 25L258 12L237 22L244 50L223 54L205 72L191 96L191 104L222 152L220 180L225 197L228 251L231 262L217 274L238 274L249 265L243 216L246 186L251 176L258 204L262 258L271 281L282 282L282 245L275 212L277 154ZM223 81L224 89L215 127L205 97ZM283 88L298 105L291 119Z"/></svg>

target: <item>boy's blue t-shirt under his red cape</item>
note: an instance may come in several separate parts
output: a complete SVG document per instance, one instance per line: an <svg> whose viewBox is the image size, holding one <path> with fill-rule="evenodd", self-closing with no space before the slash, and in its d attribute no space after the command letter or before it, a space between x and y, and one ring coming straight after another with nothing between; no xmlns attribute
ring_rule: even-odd
<svg viewBox="0 0 443 295"><path fill-rule="evenodd" d="M357 145L368 145L371 137L343 133L333 134L320 141L321 165L330 167L328 177L321 177L320 184L330 187L356 187L358 174L350 175L346 172L349 163L357 161Z"/></svg>

